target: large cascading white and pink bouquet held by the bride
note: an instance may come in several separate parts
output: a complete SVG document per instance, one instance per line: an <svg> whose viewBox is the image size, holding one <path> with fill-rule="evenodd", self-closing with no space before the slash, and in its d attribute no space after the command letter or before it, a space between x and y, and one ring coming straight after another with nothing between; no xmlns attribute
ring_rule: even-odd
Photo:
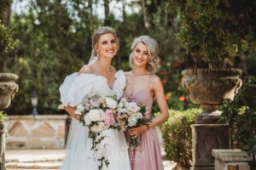
<svg viewBox="0 0 256 170"><path fill-rule="evenodd" d="M89 127L89 138L92 139L91 150L95 151L96 160L100 161L99 169L107 166L106 146L111 144L112 133L109 129L117 129L115 121L117 113L116 95L102 97L98 101L89 99L84 105L78 105L75 111L80 122ZM103 165L104 163L104 165Z"/></svg>

